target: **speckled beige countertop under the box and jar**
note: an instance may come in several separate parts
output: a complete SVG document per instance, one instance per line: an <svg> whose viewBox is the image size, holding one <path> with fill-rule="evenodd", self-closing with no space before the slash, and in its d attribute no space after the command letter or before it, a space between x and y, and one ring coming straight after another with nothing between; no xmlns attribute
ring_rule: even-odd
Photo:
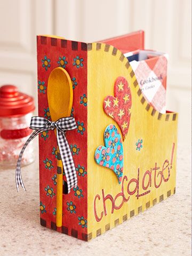
<svg viewBox="0 0 192 256"><path fill-rule="evenodd" d="M17 193L14 170L0 171L1 256L191 255L189 147L178 148L175 195L90 242L39 224L38 159L22 168L22 177L27 192Z"/></svg>

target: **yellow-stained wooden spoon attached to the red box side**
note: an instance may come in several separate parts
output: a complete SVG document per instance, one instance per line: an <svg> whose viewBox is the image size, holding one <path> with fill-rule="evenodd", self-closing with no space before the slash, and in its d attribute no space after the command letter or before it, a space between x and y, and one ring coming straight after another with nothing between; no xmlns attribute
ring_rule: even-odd
<svg viewBox="0 0 192 256"><path fill-rule="evenodd" d="M47 99L49 103L52 121L71 114L73 104L73 86L69 74L63 68L55 68L51 71L47 85ZM54 130L57 134L56 129ZM56 226L62 226L62 186L63 186L63 165L57 146L57 212Z"/></svg>

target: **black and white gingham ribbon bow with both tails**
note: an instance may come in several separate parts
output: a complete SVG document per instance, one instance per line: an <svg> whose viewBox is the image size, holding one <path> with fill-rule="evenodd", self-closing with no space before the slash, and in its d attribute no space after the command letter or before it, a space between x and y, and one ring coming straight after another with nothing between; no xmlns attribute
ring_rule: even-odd
<svg viewBox="0 0 192 256"><path fill-rule="evenodd" d="M15 180L17 190L19 190L19 185L23 189L25 186L22 181L21 177L21 159L23 152L29 142L33 140L39 133L42 133L47 130L57 130L57 141L60 150L61 160L63 164L63 170L65 170L67 185L68 185L68 194L70 193L70 189L77 186L77 174L75 170L75 164L73 161L73 156L71 155L70 147L65 137L65 133L67 130L74 130L76 129L77 125L75 123L74 117L63 117L60 118L56 122L49 121L48 119L41 117L41 116L33 116L30 122L30 129L36 130L34 131L28 140L26 141L25 145L21 149L21 152L18 157L18 162L15 171ZM26 190L26 189L25 189Z"/></svg>

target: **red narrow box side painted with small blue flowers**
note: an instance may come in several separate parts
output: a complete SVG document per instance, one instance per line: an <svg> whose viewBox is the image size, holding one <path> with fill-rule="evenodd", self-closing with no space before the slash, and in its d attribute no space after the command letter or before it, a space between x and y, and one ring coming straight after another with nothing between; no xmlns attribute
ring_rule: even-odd
<svg viewBox="0 0 192 256"><path fill-rule="evenodd" d="M76 61L78 59L78 61ZM87 45L64 39L37 36L38 115L50 119L47 80L56 67L63 67L73 82L73 109L78 129L66 134L73 153L78 187L63 194L63 223L57 214L57 140L53 131L39 135L39 182L41 225L87 240ZM55 154L56 153L56 154ZM65 175L63 175L63 180Z"/></svg>

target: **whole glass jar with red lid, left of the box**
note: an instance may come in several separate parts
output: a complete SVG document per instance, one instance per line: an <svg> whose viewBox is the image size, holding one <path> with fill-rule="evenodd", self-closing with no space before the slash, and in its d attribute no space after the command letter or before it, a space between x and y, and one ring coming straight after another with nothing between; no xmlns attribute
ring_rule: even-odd
<svg viewBox="0 0 192 256"><path fill-rule="evenodd" d="M0 166L15 167L19 153L31 134L30 119L35 109L34 99L18 92L14 85L0 87ZM34 142L27 146L22 165L35 159Z"/></svg>

